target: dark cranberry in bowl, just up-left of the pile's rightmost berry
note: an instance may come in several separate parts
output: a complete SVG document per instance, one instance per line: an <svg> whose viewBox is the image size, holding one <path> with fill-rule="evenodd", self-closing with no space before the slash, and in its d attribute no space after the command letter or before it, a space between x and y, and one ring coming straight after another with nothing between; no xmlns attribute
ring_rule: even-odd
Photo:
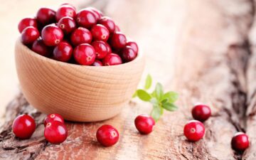
<svg viewBox="0 0 256 160"><path fill-rule="evenodd" d="M124 48L127 43L127 38L124 36L123 33L115 32L111 38L111 46L115 49Z"/></svg>

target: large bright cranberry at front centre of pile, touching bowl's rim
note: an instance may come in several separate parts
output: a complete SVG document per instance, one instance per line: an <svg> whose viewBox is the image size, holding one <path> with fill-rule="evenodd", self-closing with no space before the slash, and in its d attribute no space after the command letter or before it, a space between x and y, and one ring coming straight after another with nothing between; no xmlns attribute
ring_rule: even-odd
<svg viewBox="0 0 256 160"><path fill-rule="evenodd" d="M74 49L74 58L80 65L92 65L95 62L95 49L90 44L82 43Z"/></svg>

